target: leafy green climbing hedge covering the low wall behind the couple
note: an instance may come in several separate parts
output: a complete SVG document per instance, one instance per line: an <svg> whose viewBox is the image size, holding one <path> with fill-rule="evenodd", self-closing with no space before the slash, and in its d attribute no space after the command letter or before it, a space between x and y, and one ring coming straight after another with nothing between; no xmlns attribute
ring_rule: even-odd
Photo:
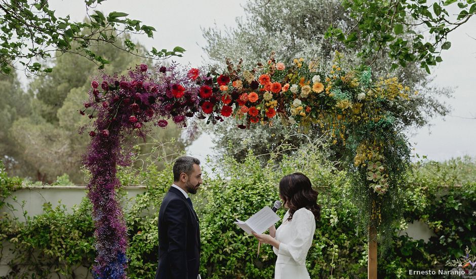
<svg viewBox="0 0 476 279"><path fill-rule="evenodd" d="M276 186L281 177L297 170L309 176L320 192L318 203L322 206L322 218L316 224L307 256L311 278L367 277L367 239L356 220L358 209L351 201L349 190L353 186L348 183L347 173L336 169L318 150L308 147L300 152L284 156L279 165L270 160L264 167L251 152L243 162L228 156L220 161L219 169L213 169L216 177L205 177L206 186L192 197L201 219L203 278L272 276L276 256L271 247L261 247L256 258L256 239L233 221L246 219L264 205L271 205L278 199ZM125 215L131 278L153 278L157 264L158 208L173 178L171 160L161 161L163 169L151 163L154 160L150 159L139 172L132 167L122 169L119 176L124 182L147 186ZM410 267L444 266L448 260L460 257L466 246L474 254L475 170L476 162L467 157L443 163L415 163L406 179L404 219L393 227L392 245L385 254L378 254L379 278L404 278ZM5 171L0 171L0 178L2 189L16 189L20 183ZM445 185L448 187L441 187ZM5 197L13 190L9 191ZM122 197L122 202L128 204L124 193ZM64 206L52 208L45 204L42 215L26 222L2 218L0 240L13 245L18 256L9 263L13 269L7 278L32 277L31 274L46 277L55 272L72 277L75 267L90 267L95 256L90 214L91 205L85 199L72 213L66 212ZM283 216L284 210L278 214ZM413 220L426 222L436 236L427 243L409 238L403 230ZM4 257L5 252L0 256ZM25 261L29 265L21 265Z"/></svg>

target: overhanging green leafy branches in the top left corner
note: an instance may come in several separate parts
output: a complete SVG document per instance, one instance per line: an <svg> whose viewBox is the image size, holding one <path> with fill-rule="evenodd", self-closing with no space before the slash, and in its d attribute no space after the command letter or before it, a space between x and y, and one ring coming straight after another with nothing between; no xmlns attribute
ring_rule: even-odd
<svg viewBox="0 0 476 279"><path fill-rule="evenodd" d="M110 61L94 50L97 45L110 45L116 50L142 58L164 59L171 56L182 56L185 51L175 47L172 51L155 48L142 54L139 48L129 39L123 45L118 34L146 34L153 38L155 28L141 24L141 21L130 19L129 14L111 12L105 16L93 10L105 0L88 0L86 16L90 21L74 22L69 15L55 16L50 10L48 1L6 1L0 2L0 28L3 42L0 45L0 73L9 75L14 65L21 64L25 73L47 75L52 67L39 62L53 58L52 53L73 53L83 56L96 63L101 69Z"/></svg>

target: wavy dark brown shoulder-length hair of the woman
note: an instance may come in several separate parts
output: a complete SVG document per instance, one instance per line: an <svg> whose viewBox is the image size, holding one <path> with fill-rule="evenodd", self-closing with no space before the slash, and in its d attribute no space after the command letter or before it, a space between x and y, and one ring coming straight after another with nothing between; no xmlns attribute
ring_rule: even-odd
<svg viewBox="0 0 476 279"><path fill-rule="evenodd" d="M288 203L289 218L293 219L293 214L304 207L314 214L314 219L321 218L321 206L318 204L318 192L312 189L311 181L300 172L291 173L280 181L280 195L284 203Z"/></svg>

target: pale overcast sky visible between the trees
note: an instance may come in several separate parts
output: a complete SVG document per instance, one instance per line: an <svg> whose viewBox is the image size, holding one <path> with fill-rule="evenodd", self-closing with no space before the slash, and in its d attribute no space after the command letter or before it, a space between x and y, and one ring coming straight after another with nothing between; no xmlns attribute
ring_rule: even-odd
<svg viewBox="0 0 476 279"><path fill-rule="evenodd" d="M174 1L123 1L109 0L96 9L107 14L112 11L126 12L129 18L141 20L155 27L154 38L136 36L147 49L173 49L183 47L184 57L174 60L191 66L208 62L202 47L206 45L201 27L224 29L236 26L235 18L244 16L237 0L174 0ZM50 8L57 16L69 14L72 20L80 21L86 14L83 0L50 0ZM451 12L451 11L450 11ZM414 154L427 156L429 160L443 161L469 155L476 157L476 16L451 32L449 50L442 52L443 62L431 68L434 84L455 89L454 97L444 99L450 105L450 115L433 118L429 125L407 131ZM213 155L211 135L204 134L187 148L187 154L201 160Z"/></svg>

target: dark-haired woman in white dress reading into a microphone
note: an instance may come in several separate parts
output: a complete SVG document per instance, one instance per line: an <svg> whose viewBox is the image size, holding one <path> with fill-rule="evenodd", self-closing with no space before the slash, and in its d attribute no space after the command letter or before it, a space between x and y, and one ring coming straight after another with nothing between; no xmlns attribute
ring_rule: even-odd
<svg viewBox="0 0 476 279"><path fill-rule="evenodd" d="M307 279L307 251L312 245L315 220L321 217L321 206L316 202L318 192L310 180L295 172L280 181L280 197L289 208L279 228L269 228L268 234L253 235L262 243L273 246L277 255L274 279Z"/></svg>

